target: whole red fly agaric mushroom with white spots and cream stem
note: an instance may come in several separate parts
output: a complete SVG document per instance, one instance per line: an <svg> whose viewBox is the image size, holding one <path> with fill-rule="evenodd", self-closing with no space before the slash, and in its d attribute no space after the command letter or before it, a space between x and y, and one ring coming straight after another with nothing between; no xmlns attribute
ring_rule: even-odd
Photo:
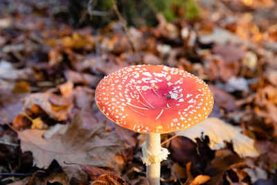
<svg viewBox="0 0 277 185"><path fill-rule="evenodd" d="M103 78L96 88L96 104L111 121L146 134L143 163L151 185L160 184L160 134L183 130L203 121L213 108L208 86L192 74L156 65L125 67Z"/></svg>

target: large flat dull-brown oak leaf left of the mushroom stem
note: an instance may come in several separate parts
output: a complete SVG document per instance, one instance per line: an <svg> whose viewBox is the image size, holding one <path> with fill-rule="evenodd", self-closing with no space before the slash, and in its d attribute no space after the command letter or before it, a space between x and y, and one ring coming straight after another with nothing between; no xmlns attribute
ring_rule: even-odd
<svg viewBox="0 0 277 185"><path fill-rule="evenodd" d="M51 132L51 134L48 134ZM48 168L55 159L76 164L106 166L107 161L124 149L124 143L116 132L106 132L105 124L83 127L82 114L78 112L67 125L55 125L51 130L24 130L18 132L22 152L33 152L33 163ZM44 135L48 135L46 139ZM111 168L113 166L110 166ZM87 179L79 166L62 166L71 178Z"/></svg>

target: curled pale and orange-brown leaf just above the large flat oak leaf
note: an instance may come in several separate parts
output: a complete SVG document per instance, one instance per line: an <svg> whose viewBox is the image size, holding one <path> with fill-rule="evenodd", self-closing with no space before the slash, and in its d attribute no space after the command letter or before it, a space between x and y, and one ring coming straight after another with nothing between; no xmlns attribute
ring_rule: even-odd
<svg viewBox="0 0 277 185"><path fill-rule="evenodd" d="M33 105L38 105L51 118L57 121L64 121L69 118L72 102L68 98L63 98L50 91L45 93L34 93L24 98L23 112L27 112Z"/></svg>

